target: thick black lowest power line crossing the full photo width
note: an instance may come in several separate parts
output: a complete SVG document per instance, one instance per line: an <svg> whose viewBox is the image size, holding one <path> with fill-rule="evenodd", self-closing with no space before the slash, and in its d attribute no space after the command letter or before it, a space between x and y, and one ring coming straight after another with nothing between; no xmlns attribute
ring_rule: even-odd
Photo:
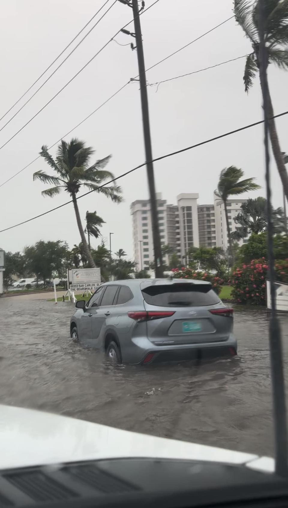
<svg viewBox="0 0 288 508"><path fill-rule="evenodd" d="M280 116L284 116L284 115L287 115L287 114L288 114L288 111L284 111L283 113L280 113L278 115L274 115L273 118L278 118ZM250 123L249 125L245 125L244 127L240 127L239 129L235 129L234 131L230 131L230 132L227 132L225 134L220 134L219 136L215 136L214 138L207 139L206 141L201 141L201 143L197 143L196 145L187 146L186 148L182 148L181 150L177 150L175 152L167 153L166 155L162 155L161 157L156 157L156 158L154 158L152 160L152 162L161 161L164 158L171 157L172 155L177 155L178 153L182 153L182 152L185 152L187 150L191 150L192 148L196 148L198 146L205 145L207 143L210 143L211 141L215 141L217 139L224 138L226 136L230 136L231 134L235 134L236 132L244 131L245 129L249 129L250 127L253 127L254 125L259 125L259 124L261 124L263 122L264 122L264 120L260 120L258 122ZM133 169L131 169L129 171L126 171L125 173L122 173L121 175L117 176L116 178L113 178L112 180L109 180L108 182L104 183L103 185L99 185L97 187L97 189L101 189L102 187L105 187L109 183L113 183L116 180L119 180L120 178L123 178L124 176L129 175L130 173L133 173L137 169L143 168L143 166L146 166L146 162L144 162L143 164L140 164L139 166L136 166L135 168L133 168ZM97 192L97 189L88 190L88 192L86 192L85 194L81 194L81 196L78 196L76 198L76 200L78 200L80 198L84 198L84 196L87 196L88 194L91 194L92 192ZM55 208L47 210L47 212L40 213L39 215L36 215L35 217L31 217L30 219L23 220L21 223L15 224L14 226L10 226L9 228L2 229L2 230L0 230L0 233L4 233L4 231L8 231L10 229L17 228L18 226L22 226L22 224L26 224L26 223L30 222L31 220L37 219L39 217L43 217L43 215L47 215L47 213L54 212L55 210L58 210L59 208L62 208L63 206L69 205L70 203L73 203L73 200L67 201L66 203L62 203L62 205L59 205L59 206L56 206Z"/></svg>

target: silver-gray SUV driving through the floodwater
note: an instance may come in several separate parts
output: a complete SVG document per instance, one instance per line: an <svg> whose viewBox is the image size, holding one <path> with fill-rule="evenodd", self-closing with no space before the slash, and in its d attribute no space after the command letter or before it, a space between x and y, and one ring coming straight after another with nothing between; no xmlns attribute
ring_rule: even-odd
<svg viewBox="0 0 288 508"><path fill-rule="evenodd" d="M118 363L237 354L233 309L221 302L210 282L106 282L88 302L76 302L76 308L71 337L99 348Z"/></svg>

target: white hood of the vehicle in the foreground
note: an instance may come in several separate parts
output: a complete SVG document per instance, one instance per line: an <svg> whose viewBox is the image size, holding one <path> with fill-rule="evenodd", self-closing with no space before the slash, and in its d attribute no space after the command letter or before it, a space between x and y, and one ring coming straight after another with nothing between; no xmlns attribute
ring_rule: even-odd
<svg viewBox="0 0 288 508"><path fill-rule="evenodd" d="M116 457L156 457L246 464L274 470L274 460L138 434L43 411L0 405L0 469Z"/></svg>

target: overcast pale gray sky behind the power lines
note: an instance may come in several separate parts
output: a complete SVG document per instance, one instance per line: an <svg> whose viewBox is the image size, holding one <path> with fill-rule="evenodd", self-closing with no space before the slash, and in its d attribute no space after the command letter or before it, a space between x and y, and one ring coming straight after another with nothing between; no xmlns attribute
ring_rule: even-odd
<svg viewBox="0 0 288 508"><path fill-rule="evenodd" d="M103 3L104 0L82 0L80 4L75 0L10 0L3 4L0 116L38 78ZM152 3L153 0L146 0L146 7ZM112 0L107 7L111 4ZM200 3L196 0L160 0L141 16L146 68L230 17L232 7L232 0L201 0ZM37 96L3 129L0 146L130 19L132 10L129 7L120 3L112 7ZM133 30L133 24L127 28ZM123 34L118 35L117 40L121 44L131 41ZM73 46L77 42L78 39ZM149 83L161 81L249 51L248 40L232 19L149 71L147 80ZM63 57L66 55L67 52ZM156 87L148 87L153 156L184 148L262 119L259 81L255 80L247 96L242 82L243 68L244 59L240 59L163 83L157 92ZM129 46L121 47L112 41L35 120L0 151L0 183L32 161L42 144L53 144L137 74L136 51L132 52ZM287 109L288 73L270 66L269 84L275 114L281 113ZM15 111L14 108L13 113ZM9 118L7 115L0 122L0 127ZM286 116L277 120L283 151L288 151L285 136L287 120ZM111 153L113 157L107 169L115 176L144 162L139 85L131 83L127 86L70 134L67 141L72 136L93 146L96 150L95 159ZM256 126L157 162L154 164L156 190L162 192L163 199L171 203L176 203L176 195L182 192L199 193L199 204L212 203L218 175L222 168L230 165L241 167L245 176L256 177L257 182L264 186L262 139L263 127ZM55 148L51 152L54 155ZM69 196L65 193L53 199L41 196L45 185L33 182L32 178L33 173L40 169L50 172L44 160L39 160L0 188L0 229L68 201ZM273 204L280 206L282 191L274 161L271 170ZM120 205L112 204L98 194L91 194L79 200L78 204L83 224L86 210L97 210L106 221L103 236L114 233L112 250L123 248L132 256L129 207L136 199L148 198L145 168L122 178L119 184L125 200ZM260 195L265 196L265 188L250 193L251 197ZM79 243L72 204L1 233L0 245L5 250L16 251L40 239L67 240L70 246Z"/></svg>

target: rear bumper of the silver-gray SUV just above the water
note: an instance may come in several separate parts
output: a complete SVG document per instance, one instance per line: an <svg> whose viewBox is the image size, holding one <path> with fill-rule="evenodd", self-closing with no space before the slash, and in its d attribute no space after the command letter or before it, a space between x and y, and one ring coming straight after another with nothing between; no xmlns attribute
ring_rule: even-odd
<svg viewBox="0 0 288 508"><path fill-rule="evenodd" d="M121 347L123 362L141 364L150 353L153 354L147 364L157 362L172 362L194 360L201 358L235 356L237 354L237 340L231 333L227 340L220 342L205 342L197 344L171 344L169 346L154 345L147 338L134 338L129 347Z"/></svg>

